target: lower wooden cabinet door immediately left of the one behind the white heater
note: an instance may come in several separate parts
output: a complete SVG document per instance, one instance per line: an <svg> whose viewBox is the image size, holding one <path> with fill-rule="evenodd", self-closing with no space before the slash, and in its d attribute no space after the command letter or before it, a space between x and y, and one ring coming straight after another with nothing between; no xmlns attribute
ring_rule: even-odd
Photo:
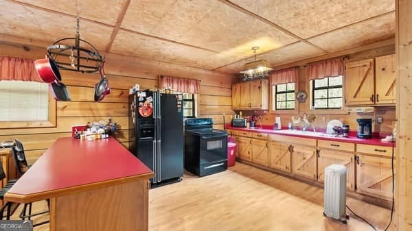
<svg viewBox="0 0 412 231"><path fill-rule="evenodd" d="M296 144L292 147L292 173L316 180L317 161L315 148Z"/></svg>

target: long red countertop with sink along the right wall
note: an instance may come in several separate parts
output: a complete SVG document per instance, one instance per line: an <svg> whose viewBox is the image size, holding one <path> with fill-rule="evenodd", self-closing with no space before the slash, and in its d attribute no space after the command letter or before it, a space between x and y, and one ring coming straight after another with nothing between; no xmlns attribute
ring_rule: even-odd
<svg viewBox="0 0 412 231"><path fill-rule="evenodd" d="M261 132L261 133L278 134L278 135L284 135L284 136L314 138L314 139L325 140L325 141L340 141L340 142L346 142L346 143L358 143L358 144L363 144L363 145L378 145L378 146L392 147L391 142L382 142L380 141L381 139L380 137L358 138L356 137L356 132L355 133L350 132L349 137L327 137L327 136L305 136L303 134L285 134L284 132L279 132L278 130L272 130L270 126L266 126L266 125L263 125L262 127L247 128L247 127L232 127L230 124L227 124L225 125L225 127L231 130L240 130L240 131L247 131L247 132Z"/></svg>

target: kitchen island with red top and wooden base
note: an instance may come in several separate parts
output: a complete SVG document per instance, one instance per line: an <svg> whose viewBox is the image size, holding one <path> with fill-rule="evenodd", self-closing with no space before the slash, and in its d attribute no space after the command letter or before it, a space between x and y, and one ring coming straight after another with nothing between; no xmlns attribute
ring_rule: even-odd
<svg viewBox="0 0 412 231"><path fill-rule="evenodd" d="M5 194L50 199L50 230L148 230L152 171L114 138L59 138Z"/></svg>

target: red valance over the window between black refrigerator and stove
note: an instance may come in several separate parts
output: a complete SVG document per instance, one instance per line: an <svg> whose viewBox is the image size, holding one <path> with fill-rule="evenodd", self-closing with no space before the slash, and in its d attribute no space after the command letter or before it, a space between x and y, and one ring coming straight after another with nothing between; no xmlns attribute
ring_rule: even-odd
<svg viewBox="0 0 412 231"><path fill-rule="evenodd" d="M170 88L180 93L198 94L201 92L199 80L161 76L160 88Z"/></svg>

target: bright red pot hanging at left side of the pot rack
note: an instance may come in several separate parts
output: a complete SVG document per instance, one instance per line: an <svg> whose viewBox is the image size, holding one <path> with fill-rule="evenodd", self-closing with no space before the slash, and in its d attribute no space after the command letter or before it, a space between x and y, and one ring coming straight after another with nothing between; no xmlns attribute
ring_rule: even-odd
<svg viewBox="0 0 412 231"><path fill-rule="evenodd" d="M52 58L43 58L41 60L34 61L34 68L39 77L43 82L47 84L56 83L60 84L62 77L60 71L58 71L58 66Z"/></svg>

